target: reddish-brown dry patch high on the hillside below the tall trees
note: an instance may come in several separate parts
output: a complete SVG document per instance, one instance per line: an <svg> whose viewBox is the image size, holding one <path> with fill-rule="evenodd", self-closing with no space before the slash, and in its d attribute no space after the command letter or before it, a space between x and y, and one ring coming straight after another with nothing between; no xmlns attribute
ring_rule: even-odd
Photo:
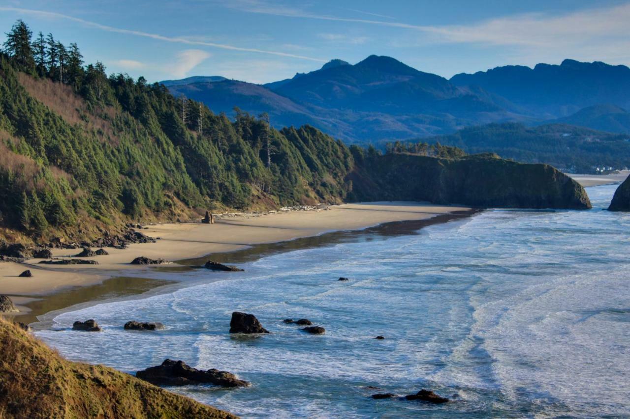
<svg viewBox="0 0 630 419"><path fill-rule="evenodd" d="M71 125L86 125L86 129L93 131L103 142L117 145L120 141L115 135L112 124L88 111L86 102L78 94L72 91L71 86L55 83L50 79L35 79L31 75L20 72L18 74L20 84L28 94L42 102L60 115ZM112 118L116 115L116 109L111 106L100 109ZM87 117L87 122L81 116Z"/></svg>

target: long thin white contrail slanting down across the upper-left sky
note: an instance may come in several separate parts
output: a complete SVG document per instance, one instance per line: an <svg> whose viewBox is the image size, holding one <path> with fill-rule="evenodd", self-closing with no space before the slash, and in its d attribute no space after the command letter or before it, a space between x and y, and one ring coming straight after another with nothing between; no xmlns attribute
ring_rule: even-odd
<svg viewBox="0 0 630 419"><path fill-rule="evenodd" d="M165 41L165 42L183 43L186 45L198 45L198 46L205 46L205 47L212 47L212 48L222 48L225 50L255 52L255 53L263 53L263 54L269 54L269 55L278 55L280 57L289 57L289 58L294 58L294 59L326 62L326 60L324 59L306 57L304 55L296 55L296 54L280 52L280 51L261 50L258 48L235 47L234 45L227 45L224 43L205 42L205 41L200 41L200 40L191 40L189 38L183 38L183 37L164 36L164 35L159 35L156 33L148 33L148 32L143 32L143 31L115 28L113 26L101 25L100 23L96 23L93 21L84 20L81 18L75 18L74 16L69 16L67 14L55 13L55 12L50 12L50 11L12 8L12 7L4 7L4 6L0 6L0 11L14 11L14 12L23 13L23 14L31 14L34 16L40 16L44 18L64 19L64 20L69 20L76 23L81 23L83 25L90 26L92 28L96 28L96 29L100 29L104 31L108 31L108 32L123 33L126 35L143 36L145 38L152 38L155 40L160 40L160 41Z"/></svg>

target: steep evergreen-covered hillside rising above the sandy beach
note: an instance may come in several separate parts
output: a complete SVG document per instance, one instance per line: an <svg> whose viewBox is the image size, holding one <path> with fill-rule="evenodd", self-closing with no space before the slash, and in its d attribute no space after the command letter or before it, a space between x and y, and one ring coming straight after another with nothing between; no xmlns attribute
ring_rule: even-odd
<svg viewBox="0 0 630 419"><path fill-rule="evenodd" d="M76 44L66 47L42 33L33 39L22 21L7 35L0 54L0 236L11 241L96 238L127 221L196 218L206 209L384 196L370 186L389 187L374 183L384 170L381 164L374 172L374 159L402 158L397 145L386 156L374 148L351 152L311 126L275 130L266 115L238 109L234 120L215 115L162 84L107 75L99 62L84 65ZM463 155L426 147L415 152L453 160ZM427 159L418 162L428 165ZM406 170L396 169L396 176L420 187L449 187ZM524 167L519 176L528 170L536 169ZM360 183L354 192L353 181ZM488 183L483 176L478 181ZM467 203L466 196L440 196ZM540 202L527 204L525 197L520 205Z"/></svg>

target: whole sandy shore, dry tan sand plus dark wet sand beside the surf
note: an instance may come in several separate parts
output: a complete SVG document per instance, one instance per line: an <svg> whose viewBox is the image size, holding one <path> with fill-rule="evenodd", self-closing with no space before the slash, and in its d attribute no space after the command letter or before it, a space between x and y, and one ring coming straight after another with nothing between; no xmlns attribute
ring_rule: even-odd
<svg viewBox="0 0 630 419"><path fill-rule="evenodd" d="M4 316L26 323L47 323L49 313L57 315L79 306L137 298L159 293L160 290L197 284L198 280L185 278L173 281L173 273L190 272L195 265L201 265L210 257L219 262L241 264L278 252L355 240L360 235L413 234L424 226L465 218L479 210L393 202L345 204L333 206L330 210L292 212L232 216L218 220L215 225L177 223L149 226L142 232L151 237L164 235L164 238L156 243L132 244L125 250L113 249L108 256L89 258L98 260L100 265L73 265L76 266L74 268L69 265L47 266L42 269L42 265L37 265L41 259L30 259L22 264L3 262L0 265L3 267L0 294L8 294L20 310L20 313ZM217 227L222 231L219 232ZM208 240L209 233L215 233L212 238L219 240ZM243 234L253 237L249 237L249 242L238 243ZM226 238L230 240L221 240ZM106 250L110 252L112 249ZM54 257L72 257L79 251L54 249ZM151 267L130 265L129 261L139 255L148 255L152 259L163 257L175 262ZM108 263L101 264L101 260ZM38 281L33 283L33 278L18 278L26 282L17 283L14 278L25 269L31 269ZM9 278L13 281L7 281ZM221 279L224 276L217 277L217 281ZM42 282L48 282L47 287L33 292ZM37 328L43 326L40 323Z"/></svg>

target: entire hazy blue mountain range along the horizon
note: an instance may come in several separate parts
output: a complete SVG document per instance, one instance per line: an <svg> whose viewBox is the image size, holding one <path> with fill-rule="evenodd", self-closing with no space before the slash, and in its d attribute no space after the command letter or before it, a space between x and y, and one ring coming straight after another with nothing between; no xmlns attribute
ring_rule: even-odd
<svg viewBox="0 0 630 419"><path fill-rule="evenodd" d="M264 85L189 77L164 84L215 113L268 113L274 126L304 123L350 143L443 135L471 125L558 122L630 132L630 69L564 60L508 65L450 80L391 57L321 69Z"/></svg>

